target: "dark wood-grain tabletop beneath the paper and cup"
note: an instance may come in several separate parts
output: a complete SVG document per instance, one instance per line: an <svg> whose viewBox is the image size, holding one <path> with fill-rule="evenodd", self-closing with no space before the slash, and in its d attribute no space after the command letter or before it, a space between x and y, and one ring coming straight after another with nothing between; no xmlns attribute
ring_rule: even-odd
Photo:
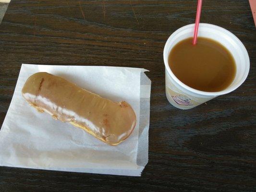
<svg viewBox="0 0 256 192"><path fill-rule="evenodd" d="M248 50L247 80L190 110L165 96L163 48L194 23L196 0L12 0L0 24L0 122L21 63L146 68L152 81L142 177L0 167L0 192L256 191L256 28L248 0L204 0L202 23Z"/></svg>

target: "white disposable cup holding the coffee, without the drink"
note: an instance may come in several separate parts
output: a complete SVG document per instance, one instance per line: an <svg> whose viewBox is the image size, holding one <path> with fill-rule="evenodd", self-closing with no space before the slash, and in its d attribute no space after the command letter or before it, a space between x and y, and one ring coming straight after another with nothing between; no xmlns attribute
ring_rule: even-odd
<svg viewBox="0 0 256 192"><path fill-rule="evenodd" d="M236 64L236 75L232 84L230 84L225 90L219 92L199 91L183 84L171 72L168 64L168 56L171 49L178 42L193 36L194 26L195 24L189 24L175 31L168 38L163 52L166 97L171 105L181 109L195 108L216 96L232 92L245 81L250 68L248 53L243 43L236 36L228 30L213 24L199 24L198 36L218 41L231 52Z"/></svg>

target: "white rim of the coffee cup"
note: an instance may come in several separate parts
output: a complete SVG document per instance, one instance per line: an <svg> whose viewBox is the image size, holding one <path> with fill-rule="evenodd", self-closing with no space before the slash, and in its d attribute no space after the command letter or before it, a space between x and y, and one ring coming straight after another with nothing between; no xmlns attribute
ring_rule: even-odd
<svg viewBox="0 0 256 192"><path fill-rule="evenodd" d="M175 32L173 32L171 34L171 36L169 36L169 38L167 39L166 43L165 43L165 46L164 46L164 50L163 50L163 57L164 57L164 65L165 65L165 68L167 69L168 73L171 75L171 78L177 83L179 84L180 86L182 86L183 88L185 88L186 90L188 91L191 91L192 93L195 93L195 94L199 94L199 95L203 95L203 96L220 96L220 95L224 95L224 94L227 94L227 93L230 93L232 91L234 91L235 89L237 89L241 84L244 83L245 79L247 78L248 76L248 73L249 73L249 69L250 69L250 59L249 59L249 55L248 55L248 52L246 50L246 48L244 47L244 44L240 41L240 39L235 36L234 34L232 34L230 31L228 31L227 29L224 29L223 27L220 27L220 26L217 26L217 25L214 25L214 24L205 24L205 23L200 23L199 24L199 30L200 30L200 26L206 26L206 27L211 27L211 28L214 28L214 29L217 29L223 33L226 33L227 35L229 36L232 36L232 38L234 40L236 40L236 42L239 44L239 47L243 50L243 52L245 53L244 56L245 56L245 60L248 64L248 68L246 69L245 73L244 73L244 76L242 77L242 79L240 80L240 82L230 88L226 88L222 91L218 91L218 92L206 92L206 91L200 91L200 90L197 90L197 89L194 89L186 84L183 84L174 74L173 72L171 71L171 68L169 66L169 63L168 63L168 57L169 57L169 52L167 52L167 46L169 44L169 42L171 41L172 37L175 36L176 34L180 33L181 31L187 29L187 28L191 28L191 27L194 27L195 24L188 24L188 25L185 25L179 29L177 29ZM167 55L167 57L165 57L165 55Z"/></svg>

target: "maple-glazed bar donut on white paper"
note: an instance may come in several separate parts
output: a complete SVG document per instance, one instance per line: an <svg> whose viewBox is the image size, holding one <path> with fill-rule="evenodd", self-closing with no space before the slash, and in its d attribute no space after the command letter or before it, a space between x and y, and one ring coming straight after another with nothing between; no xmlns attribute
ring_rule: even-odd
<svg viewBox="0 0 256 192"><path fill-rule="evenodd" d="M70 122L110 145L125 140L136 124L134 110L127 102L113 102L47 72L30 76L22 95L39 112Z"/></svg>

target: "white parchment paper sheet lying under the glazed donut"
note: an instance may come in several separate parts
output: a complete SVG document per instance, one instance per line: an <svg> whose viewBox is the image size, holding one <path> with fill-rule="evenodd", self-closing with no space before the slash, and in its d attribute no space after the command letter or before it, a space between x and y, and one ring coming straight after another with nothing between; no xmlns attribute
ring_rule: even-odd
<svg viewBox="0 0 256 192"><path fill-rule="evenodd" d="M128 139L107 145L69 123L38 113L21 94L26 79L49 72L119 102L127 101L137 123ZM23 64L0 130L0 166L140 176L148 161L151 81L145 69Z"/></svg>

